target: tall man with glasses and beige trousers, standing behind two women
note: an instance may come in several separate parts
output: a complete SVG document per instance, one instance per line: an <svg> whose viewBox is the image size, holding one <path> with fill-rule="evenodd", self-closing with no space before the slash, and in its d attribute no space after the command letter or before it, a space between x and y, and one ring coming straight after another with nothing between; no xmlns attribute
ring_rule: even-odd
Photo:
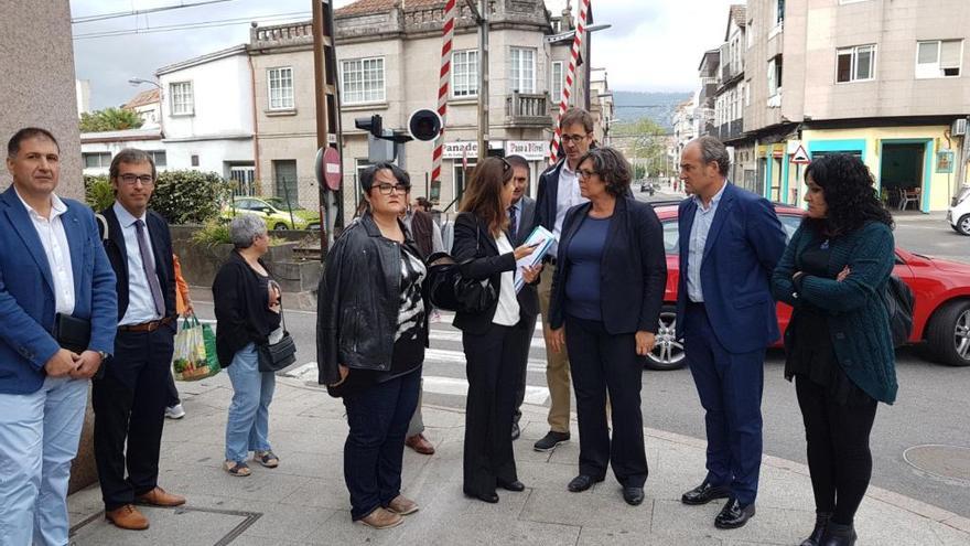
<svg viewBox="0 0 970 546"><path fill-rule="evenodd" d="M536 200L536 225L559 236L562 221L570 207L585 203L580 195L580 158L593 143L593 117L582 108L570 108L559 122L562 130L562 151L565 158L549 168L539 176L539 193ZM531 229L530 229L531 232ZM539 282L539 310L542 313L542 332L546 335L546 383L549 385L549 433L536 442L536 451L552 451L562 442L569 441L569 356L563 349L557 353L551 350L549 330L549 297L552 292L552 278L556 276L557 243L552 244L546 258L546 267Z"/></svg>

